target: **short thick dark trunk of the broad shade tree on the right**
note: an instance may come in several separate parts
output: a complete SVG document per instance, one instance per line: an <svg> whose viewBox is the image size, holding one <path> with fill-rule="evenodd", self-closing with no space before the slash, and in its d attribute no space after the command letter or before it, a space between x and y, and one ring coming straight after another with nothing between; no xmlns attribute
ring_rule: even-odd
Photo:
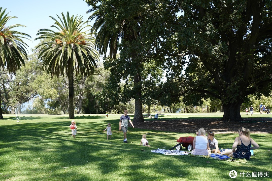
<svg viewBox="0 0 272 181"><path fill-rule="evenodd" d="M242 121L242 117L240 114L240 107L242 103L229 103L229 104L223 104L224 108L224 115L221 119L222 121Z"/></svg>

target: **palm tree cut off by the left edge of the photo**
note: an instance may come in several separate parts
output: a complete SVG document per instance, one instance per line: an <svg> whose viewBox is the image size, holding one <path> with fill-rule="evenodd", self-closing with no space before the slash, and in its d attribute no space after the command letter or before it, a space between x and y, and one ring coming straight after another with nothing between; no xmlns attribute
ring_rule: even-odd
<svg viewBox="0 0 272 181"><path fill-rule="evenodd" d="M6 9L0 7L0 68L7 68L8 72L16 73L24 65L24 59L27 58L26 47L22 38L31 38L28 34L13 30L16 27L25 27L21 24L7 26L10 19L17 18L16 16L8 16ZM0 92L1 105L1 92ZM3 119L2 109L0 109L0 119Z"/></svg>

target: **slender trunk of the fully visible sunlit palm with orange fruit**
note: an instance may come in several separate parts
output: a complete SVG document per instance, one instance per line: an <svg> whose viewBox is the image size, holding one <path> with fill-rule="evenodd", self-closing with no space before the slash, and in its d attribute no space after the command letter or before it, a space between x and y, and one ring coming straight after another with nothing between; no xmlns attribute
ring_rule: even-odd
<svg viewBox="0 0 272 181"><path fill-rule="evenodd" d="M74 119L74 68L68 61L69 119Z"/></svg>

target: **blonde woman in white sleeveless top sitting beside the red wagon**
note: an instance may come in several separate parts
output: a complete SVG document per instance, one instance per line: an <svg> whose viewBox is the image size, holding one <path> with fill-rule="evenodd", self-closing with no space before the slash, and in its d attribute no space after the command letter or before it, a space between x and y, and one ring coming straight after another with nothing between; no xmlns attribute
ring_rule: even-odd
<svg viewBox="0 0 272 181"><path fill-rule="evenodd" d="M208 155L210 150L208 137L206 136L204 128L199 128L196 132L196 137L193 141L192 155Z"/></svg>

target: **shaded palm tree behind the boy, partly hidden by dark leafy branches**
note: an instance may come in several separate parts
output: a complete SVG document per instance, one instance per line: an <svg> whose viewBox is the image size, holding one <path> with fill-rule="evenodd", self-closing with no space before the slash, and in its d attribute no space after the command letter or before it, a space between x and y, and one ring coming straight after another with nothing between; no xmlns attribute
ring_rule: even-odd
<svg viewBox="0 0 272 181"><path fill-rule="evenodd" d="M97 33L95 45L99 49L99 53L104 54L106 56L107 49L109 47L109 55L114 60L116 59L117 53L117 44L119 40L122 38L124 41L132 42L137 40L139 37L139 32L134 30L131 24L134 24L135 21L129 21L127 19L120 20L116 23L115 28L113 28L109 21L106 20L107 12L103 9L102 4L98 6L93 6L92 9L89 9L87 13L91 13L89 20L94 20L94 24L92 27L92 32ZM138 17L135 17L138 19ZM130 24L130 26L128 25ZM137 23L136 23L137 24ZM134 24L135 25L135 24ZM111 27L111 28L109 28ZM143 113L142 113L142 85L141 85L141 72L140 67L141 63L137 59L139 59L138 54L135 52L131 52L129 57L132 62L134 62L134 70L133 74L133 82L134 82L134 90L135 90L135 113L134 113L134 122L144 122Z"/></svg>

